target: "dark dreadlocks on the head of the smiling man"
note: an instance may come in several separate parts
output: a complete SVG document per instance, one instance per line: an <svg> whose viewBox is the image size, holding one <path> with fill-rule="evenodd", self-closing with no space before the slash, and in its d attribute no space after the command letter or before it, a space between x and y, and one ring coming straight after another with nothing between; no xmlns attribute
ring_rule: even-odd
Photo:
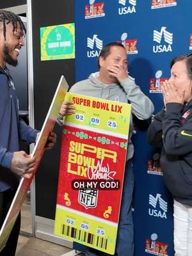
<svg viewBox="0 0 192 256"><path fill-rule="evenodd" d="M6 40L6 25L10 22L12 22L13 25L13 32L17 31L17 22L19 22L20 29L24 31L24 35L26 35L26 27L24 26L24 23L20 17L15 13L6 10L0 10L0 22L3 22L4 40Z"/></svg>

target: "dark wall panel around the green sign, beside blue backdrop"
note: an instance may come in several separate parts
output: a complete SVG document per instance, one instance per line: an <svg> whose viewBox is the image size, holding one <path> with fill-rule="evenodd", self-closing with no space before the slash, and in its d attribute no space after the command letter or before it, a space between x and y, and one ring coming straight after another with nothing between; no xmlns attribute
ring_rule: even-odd
<svg viewBox="0 0 192 256"><path fill-rule="evenodd" d="M40 61L40 27L74 22L74 1L32 1L35 127L41 129L61 74L74 84L74 60ZM36 215L54 219L61 127L56 125L58 143L45 152L36 173Z"/></svg>

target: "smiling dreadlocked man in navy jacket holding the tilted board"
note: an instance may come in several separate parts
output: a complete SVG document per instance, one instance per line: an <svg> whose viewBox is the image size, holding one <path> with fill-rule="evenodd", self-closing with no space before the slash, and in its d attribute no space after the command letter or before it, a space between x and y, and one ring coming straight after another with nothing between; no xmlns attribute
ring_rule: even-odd
<svg viewBox="0 0 192 256"><path fill-rule="evenodd" d="M20 177L31 177L35 170L35 157L19 151L19 140L34 143L38 131L19 118L19 100L13 79L6 63L16 66L26 28L20 17L12 12L0 10L0 225L12 203ZM52 132L46 148L56 142ZM13 256L20 230L20 214L15 221L6 246L0 256Z"/></svg>

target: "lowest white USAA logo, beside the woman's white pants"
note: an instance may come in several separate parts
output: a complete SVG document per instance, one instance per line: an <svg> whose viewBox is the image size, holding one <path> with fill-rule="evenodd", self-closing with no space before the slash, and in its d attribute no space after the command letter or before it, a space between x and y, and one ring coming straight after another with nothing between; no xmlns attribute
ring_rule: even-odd
<svg viewBox="0 0 192 256"><path fill-rule="evenodd" d="M161 194L157 194L156 197L149 195L148 204L152 205L152 208L148 208L148 214L150 216L166 219L168 204L161 198Z"/></svg>

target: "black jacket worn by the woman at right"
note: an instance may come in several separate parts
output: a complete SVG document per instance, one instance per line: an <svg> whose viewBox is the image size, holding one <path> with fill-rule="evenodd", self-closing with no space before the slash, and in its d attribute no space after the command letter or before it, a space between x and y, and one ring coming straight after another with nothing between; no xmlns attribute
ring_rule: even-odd
<svg viewBox="0 0 192 256"><path fill-rule="evenodd" d="M161 147L164 182L181 204L192 206L192 100L166 104L148 128L148 143Z"/></svg>

